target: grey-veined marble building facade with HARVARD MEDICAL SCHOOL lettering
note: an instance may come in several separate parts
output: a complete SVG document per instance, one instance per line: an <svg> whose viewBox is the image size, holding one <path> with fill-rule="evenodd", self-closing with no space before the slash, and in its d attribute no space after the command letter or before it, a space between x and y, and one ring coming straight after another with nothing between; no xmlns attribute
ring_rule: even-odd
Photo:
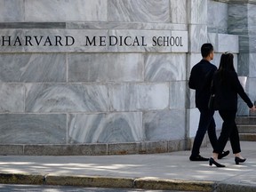
<svg viewBox="0 0 256 192"><path fill-rule="evenodd" d="M190 69L210 42L256 100L254 0L0 1L0 153L189 149ZM239 102L239 116L248 108ZM218 129L221 120L215 115Z"/></svg>

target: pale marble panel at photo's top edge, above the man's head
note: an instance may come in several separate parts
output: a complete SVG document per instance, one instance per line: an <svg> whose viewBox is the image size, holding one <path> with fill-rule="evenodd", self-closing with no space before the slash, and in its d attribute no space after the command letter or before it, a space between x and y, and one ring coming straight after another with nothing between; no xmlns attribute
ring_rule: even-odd
<svg viewBox="0 0 256 192"><path fill-rule="evenodd" d="M207 0L188 1L188 23L207 24Z"/></svg>

